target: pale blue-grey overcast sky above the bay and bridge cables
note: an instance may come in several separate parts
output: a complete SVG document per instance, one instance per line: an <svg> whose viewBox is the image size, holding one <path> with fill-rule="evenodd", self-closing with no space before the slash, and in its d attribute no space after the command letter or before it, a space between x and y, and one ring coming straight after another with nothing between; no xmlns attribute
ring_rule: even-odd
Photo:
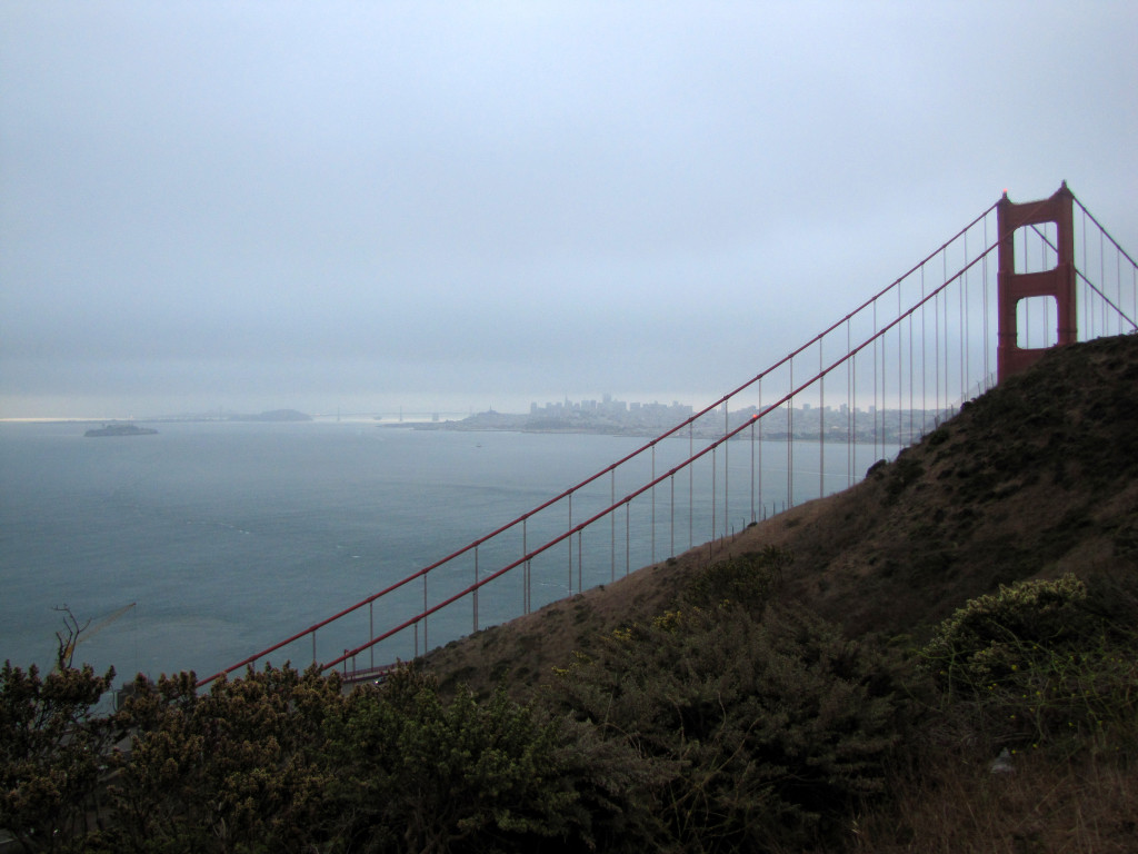
<svg viewBox="0 0 1138 854"><path fill-rule="evenodd" d="M1132 0L2 0L0 417L710 402L1136 153Z"/></svg>

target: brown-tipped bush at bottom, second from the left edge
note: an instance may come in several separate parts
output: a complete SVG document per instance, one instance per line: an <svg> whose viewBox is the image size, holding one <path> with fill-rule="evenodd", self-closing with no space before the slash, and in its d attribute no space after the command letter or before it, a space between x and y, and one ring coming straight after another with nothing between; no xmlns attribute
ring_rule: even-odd
<svg viewBox="0 0 1138 854"><path fill-rule="evenodd" d="M107 851L302 851L322 838L335 770L323 725L343 705L335 674L251 667L199 693L192 673L138 676L121 717Z"/></svg>

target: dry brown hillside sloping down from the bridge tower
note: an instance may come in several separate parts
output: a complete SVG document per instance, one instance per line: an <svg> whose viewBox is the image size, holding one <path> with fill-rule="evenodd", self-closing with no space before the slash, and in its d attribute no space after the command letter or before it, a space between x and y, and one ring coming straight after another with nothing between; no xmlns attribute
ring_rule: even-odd
<svg viewBox="0 0 1138 854"><path fill-rule="evenodd" d="M723 557L790 550L781 596L850 637L927 632L1019 580L1138 568L1138 336L1048 352L892 462L729 541L448 644L444 685L526 696L612 629L662 613Z"/></svg>

